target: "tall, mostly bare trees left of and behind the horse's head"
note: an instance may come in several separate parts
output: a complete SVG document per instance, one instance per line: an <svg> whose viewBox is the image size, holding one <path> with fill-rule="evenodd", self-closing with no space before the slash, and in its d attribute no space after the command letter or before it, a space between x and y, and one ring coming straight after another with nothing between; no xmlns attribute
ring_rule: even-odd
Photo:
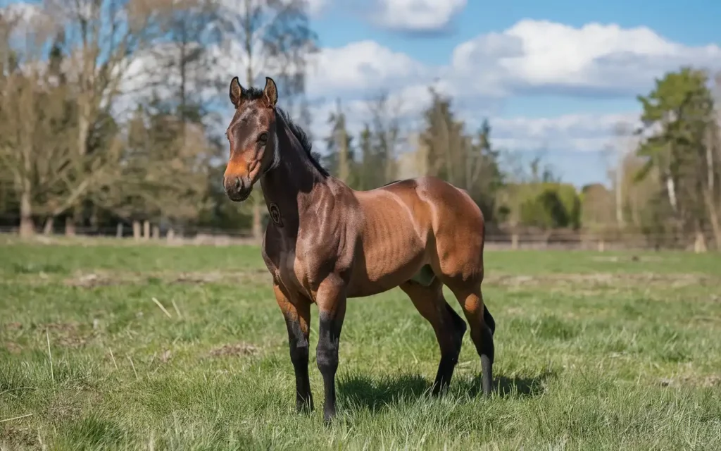
<svg viewBox="0 0 721 451"><path fill-rule="evenodd" d="M227 80L301 118L303 0L46 0L0 11L0 221L21 235L244 227L224 201ZM302 119L301 119L302 120ZM258 203L252 206L256 212Z"/></svg>

